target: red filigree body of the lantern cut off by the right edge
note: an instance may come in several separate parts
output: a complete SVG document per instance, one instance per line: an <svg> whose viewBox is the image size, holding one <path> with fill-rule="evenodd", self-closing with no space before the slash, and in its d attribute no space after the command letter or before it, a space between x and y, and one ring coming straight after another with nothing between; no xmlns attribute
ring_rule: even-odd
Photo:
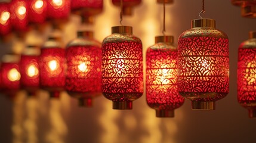
<svg viewBox="0 0 256 143"><path fill-rule="evenodd" d="M256 48L239 48L238 101L245 107L256 106Z"/></svg>

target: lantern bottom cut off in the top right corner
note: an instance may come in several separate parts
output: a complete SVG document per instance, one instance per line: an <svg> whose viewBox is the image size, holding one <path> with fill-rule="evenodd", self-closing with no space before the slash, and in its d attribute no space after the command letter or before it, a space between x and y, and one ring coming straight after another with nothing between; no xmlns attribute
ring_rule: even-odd
<svg viewBox="0 0 256 143"><path fill-rule="evenodd" d="M242 17L256 17L256 0L232 0L231 2L241 8Z"/></svg>

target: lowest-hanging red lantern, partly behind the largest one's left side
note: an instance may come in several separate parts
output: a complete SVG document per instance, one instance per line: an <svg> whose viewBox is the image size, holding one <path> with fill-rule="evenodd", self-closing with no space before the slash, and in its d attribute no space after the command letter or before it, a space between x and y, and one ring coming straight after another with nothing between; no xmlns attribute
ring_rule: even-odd
<svg viewBox="0 0 256 143"><path fill-rule="evenodd" d="M174 109L184 98L178 94L177 55L172 36L158 36L146 52L147 104L156 110L157 117L174 117Z"/></svg>

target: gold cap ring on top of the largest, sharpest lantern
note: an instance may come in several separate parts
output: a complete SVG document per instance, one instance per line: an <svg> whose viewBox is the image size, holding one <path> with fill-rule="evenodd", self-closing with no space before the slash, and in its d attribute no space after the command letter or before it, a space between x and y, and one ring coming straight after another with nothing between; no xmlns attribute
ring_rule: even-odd
<svg viewBox="0 0 256 143"><path fill-rule="evenodd" d="M191 21L191 27L208 27L208 28L215 28L215 20L213 19L207 19L207 18L202 18L202 19L195 19Z"/></svg>

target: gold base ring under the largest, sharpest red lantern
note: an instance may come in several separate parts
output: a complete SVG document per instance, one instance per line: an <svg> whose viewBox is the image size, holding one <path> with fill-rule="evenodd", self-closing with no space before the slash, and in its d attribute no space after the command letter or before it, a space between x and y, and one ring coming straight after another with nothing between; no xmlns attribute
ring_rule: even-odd
<svg viewBox="0 0 256 143"><path fill-rule="evenodd" d="M193 110L215 110L215 101L192 101Z"/></svg>

